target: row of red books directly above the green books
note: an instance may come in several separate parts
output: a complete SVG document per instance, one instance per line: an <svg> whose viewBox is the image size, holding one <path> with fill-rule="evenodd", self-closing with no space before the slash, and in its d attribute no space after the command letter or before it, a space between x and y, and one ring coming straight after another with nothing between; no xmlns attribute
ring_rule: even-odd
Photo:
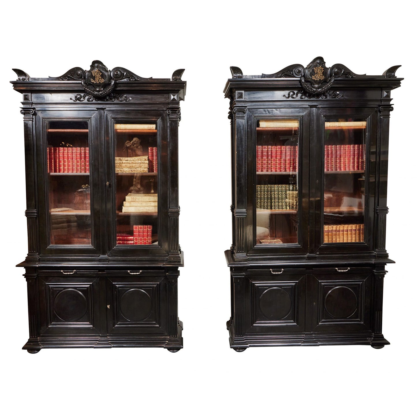
<svg viewBox="0 0 417 417"><path fill-rule="evenodd" d="M256 172L297 172L298 146L256 146Z"/></svg>

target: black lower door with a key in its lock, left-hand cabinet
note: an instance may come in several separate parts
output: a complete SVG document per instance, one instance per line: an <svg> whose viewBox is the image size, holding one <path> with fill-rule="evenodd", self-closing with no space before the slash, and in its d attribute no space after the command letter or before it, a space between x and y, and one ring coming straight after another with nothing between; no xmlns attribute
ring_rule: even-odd
<svg viewBox="0 0 417 417"><path fill-rule="evenodd" d="M108 334L166 334L167 285L161 271L106 278Z"/></svg>

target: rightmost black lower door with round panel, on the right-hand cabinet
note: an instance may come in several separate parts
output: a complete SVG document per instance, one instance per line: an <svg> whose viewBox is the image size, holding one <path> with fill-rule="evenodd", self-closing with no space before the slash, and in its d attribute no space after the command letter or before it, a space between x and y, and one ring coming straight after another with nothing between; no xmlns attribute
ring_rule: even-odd
<svg viewBox="0 0 417 417"><path fill-rule="evenodd" d="M366 268L313 269L307 280L309 331L370 331L372 279Z"/></svg>

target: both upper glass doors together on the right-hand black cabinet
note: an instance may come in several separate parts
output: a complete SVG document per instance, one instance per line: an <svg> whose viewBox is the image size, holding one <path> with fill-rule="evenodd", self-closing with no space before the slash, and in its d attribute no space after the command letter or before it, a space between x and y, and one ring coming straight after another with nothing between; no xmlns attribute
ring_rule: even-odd
<svg viewBox="0 0 417 417"><path fill-rule="evenodd" d="M254 149L249 253L370 250L376 110L250 109L246 117Z"/></svg>

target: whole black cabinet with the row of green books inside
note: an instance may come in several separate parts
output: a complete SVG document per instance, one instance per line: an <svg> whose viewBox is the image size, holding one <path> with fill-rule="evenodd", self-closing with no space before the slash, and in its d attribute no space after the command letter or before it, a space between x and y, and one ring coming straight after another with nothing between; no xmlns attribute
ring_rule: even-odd
<svg viewBox="0 0 417 417"><path fill-rule="evenodd" d="M230 346L379 349L391 90L322 57L274 74L231 67Z"/></svg>

